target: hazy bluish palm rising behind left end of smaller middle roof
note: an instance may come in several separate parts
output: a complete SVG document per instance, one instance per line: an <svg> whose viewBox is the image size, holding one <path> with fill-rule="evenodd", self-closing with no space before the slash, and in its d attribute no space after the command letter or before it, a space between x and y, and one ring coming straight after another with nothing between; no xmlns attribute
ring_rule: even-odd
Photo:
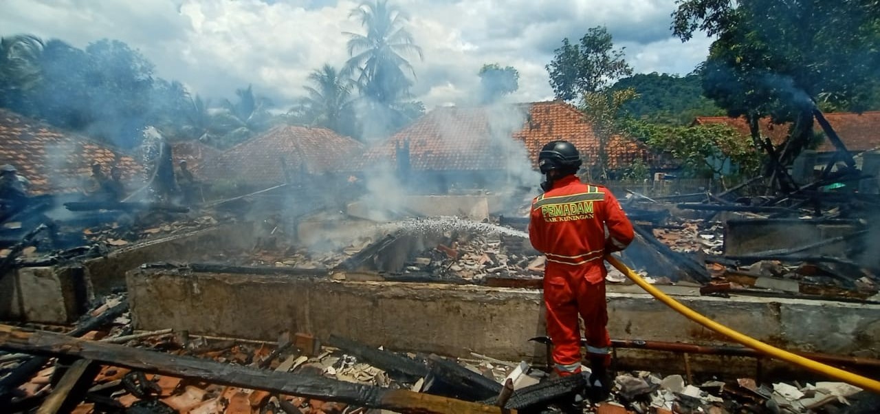
<svg viewBox="0 0 880 414"><path fill-rule="evenodd" d="M232 103L224 100L222 110L216 115L217 124L224 130L218 143L222 147L230 147L251 137L253 134L268 129L272 115L268 112L271 102L253 94L252 85L247 89L237 89L238 101Z"/></svg>

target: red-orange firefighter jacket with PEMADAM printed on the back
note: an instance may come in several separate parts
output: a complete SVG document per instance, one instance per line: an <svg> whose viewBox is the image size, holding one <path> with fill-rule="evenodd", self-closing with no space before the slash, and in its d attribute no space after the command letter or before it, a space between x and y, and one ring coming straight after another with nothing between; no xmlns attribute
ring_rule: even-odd
<svg viewBox="0 0 880 414"><path fill-rule="evenodd" d="M633 237L633 225L611 191L575 175L532 201L529 239L546 255L546 277L604 283L603 256L627 248Z"/></svg>

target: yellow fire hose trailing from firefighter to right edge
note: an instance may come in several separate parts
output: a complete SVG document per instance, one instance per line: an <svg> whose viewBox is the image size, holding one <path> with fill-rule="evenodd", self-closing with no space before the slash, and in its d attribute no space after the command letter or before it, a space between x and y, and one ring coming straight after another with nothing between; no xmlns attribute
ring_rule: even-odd
<svg viewBox="0 0 880 414"><path fill-rule="evenodd" d="M800 355L781 350L773 345L764 344L763 342L760 342L759 340L752 338L751 336L741 334L736 330L730 329L722 325L721 323L715 322L707 318L706 316L703 316L702 314L698 314L690 307L686 307L679 303L676 299L672 299L667 296L664 292L660 292L659 289L657 289L653 285L650 285L648 282L645 282L642 277L637 275L633 270L627 268L625 264L621 263L614 256L605 255L605 260L611 263L611 265L614 266L617 270L620 270L621 273L627 275L627 277L632 279L632 281L635 282L636 285L639 285L640 287L642 287L642 289L649 292L656 299L666 304L666 306L675 309L676 312L685 315L687 319L690 319L693 322L697 322L708 329L712 329L719 334L728 336L730 337L730 339L733 339L740 344L744 344L749 348L762 352L775 359L781 359L783 361L787 361L798 366L803 366L810 371L822 373L837 380L852 384L856 387L864 388L880 394L880 381L871 380L870 378L863 377L862 375L848 373L847 371L844 371L842 369L835 368L833 366L827 366L825 364L822 364L821 362L816 362L812 359L803 358Z"/></svg>

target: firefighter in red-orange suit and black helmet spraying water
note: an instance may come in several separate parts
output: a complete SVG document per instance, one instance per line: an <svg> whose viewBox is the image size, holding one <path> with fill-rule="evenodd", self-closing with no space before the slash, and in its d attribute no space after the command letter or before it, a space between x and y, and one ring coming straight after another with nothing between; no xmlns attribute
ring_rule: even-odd
<svg viewBox="0 0 880 414"><path fill-rule="evenodd" d="M603 256L627 248L634 234L611 191L577 178L580 166L580 154L571 143L554 141L541 149L545 193L532 201L529 239L546 255L544 304L555 371L561 376L581 372L580 314L592 367L591 395L604 400L610 386L606 368L611 339L605 328Z"/></svg>

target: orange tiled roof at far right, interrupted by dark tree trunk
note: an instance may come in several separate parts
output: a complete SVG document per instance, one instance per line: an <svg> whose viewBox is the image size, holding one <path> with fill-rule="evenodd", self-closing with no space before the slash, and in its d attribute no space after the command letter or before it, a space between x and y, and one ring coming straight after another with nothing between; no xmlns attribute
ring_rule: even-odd
<svg viewBox="0 0 880 414"><path fill-rule="evenodd" d="M861 152L880 147L880 112L864 112L862 114L832 112L825 114L825 119L828 120L834 131L837 132L843 144L847 146L847 150ZM739 130L746 137L751 135L749 125L745 122L744 117L701 116L693 123L723 123ZM785 138L788 136L788 127L788 123L772 123L769 118L761 118L759 121L761 136L769 137L777 145L785 141ZM818 122L813 122L813 129L816 132L822 133L822 128L818 125ZM834 151L834 145L825 138L817 151L832 152Z"/></svg>

